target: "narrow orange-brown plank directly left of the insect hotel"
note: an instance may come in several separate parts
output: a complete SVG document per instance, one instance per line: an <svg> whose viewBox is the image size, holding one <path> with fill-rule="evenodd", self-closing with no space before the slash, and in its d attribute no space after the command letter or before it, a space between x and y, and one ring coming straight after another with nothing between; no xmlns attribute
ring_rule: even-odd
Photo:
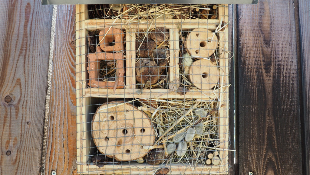
<svg viewBox="0 0 310 175"><path fill-rule="evenodd" d="M58 5L45 174L77 174L74 5Z"/></svg>

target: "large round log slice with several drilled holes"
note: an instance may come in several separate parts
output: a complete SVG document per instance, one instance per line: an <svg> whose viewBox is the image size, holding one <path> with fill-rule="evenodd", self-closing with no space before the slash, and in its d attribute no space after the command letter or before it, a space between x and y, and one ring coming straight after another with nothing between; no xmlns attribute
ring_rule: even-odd
<svg viewBox="0 0 310 175"><path fill-rule="evenodd" d="M155 135L148 116L126 103L113 101L101 105L92 122L92 136L98 150L119 161L137 160L148 153L143 146L154 144ZM108 108L108 109L106 109Z"/></svg>

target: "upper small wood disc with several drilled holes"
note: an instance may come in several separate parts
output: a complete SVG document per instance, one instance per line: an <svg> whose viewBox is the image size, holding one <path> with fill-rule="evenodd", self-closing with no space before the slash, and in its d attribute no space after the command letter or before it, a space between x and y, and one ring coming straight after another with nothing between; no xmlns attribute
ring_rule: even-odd
<svg viewBox="0 0 310 175"><path fill-rule="evenodd" d="M217 45L216 35L206 28L192 30L185 41L185 47L191 55L204 58L214 54Z"/></svg>

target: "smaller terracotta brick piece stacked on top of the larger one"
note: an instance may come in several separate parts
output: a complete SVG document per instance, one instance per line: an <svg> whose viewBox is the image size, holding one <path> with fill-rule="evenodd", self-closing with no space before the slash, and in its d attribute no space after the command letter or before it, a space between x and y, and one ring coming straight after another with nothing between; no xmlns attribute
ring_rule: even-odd
<svg viewBox="0 0 310 175"><path fill-rule="evenodd" d="M108 32L108 33L107 33ZM105 37L104 37L105 36ZM102 38L104 37L104 40ZM104 28L99 33L100 48L104 52L115 52L124 50L124 37L125 34L121 29L118 28ZM109 46L109 43L112 43L115 40L114 46Z"/></svg>

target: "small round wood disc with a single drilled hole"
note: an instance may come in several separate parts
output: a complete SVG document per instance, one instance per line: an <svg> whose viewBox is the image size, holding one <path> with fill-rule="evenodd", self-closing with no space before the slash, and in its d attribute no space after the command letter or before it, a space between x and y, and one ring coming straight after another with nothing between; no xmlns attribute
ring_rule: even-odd
<svg viewBox="0 0 310 175"><path fill-rule="evenodd" d="M207 59L198 59L189 68L188 81L198 89L211 89L219 81L219 69Z"/></svg>

